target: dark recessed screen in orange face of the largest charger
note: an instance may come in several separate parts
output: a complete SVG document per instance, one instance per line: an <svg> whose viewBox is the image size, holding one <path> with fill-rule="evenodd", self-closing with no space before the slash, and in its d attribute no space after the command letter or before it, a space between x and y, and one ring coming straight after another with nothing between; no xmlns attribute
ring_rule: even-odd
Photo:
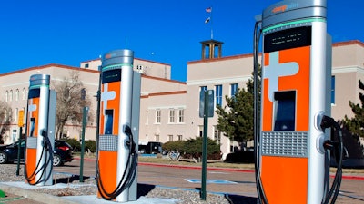
<svg viewBox="0 0 364 204"><path fill-rule="evenodd" d="M275 92L276 119L274 131L294 131L296 118L296 92Z"/></svg>

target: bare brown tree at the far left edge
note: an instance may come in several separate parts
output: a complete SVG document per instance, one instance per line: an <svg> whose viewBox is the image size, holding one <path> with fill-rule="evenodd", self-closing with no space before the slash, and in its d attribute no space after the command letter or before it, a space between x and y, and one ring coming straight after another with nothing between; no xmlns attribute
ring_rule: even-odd
<svg viewBox="0 0 364 204"><path fill-rule="evenodd" d="M0 101L0 144L4 144L6 132L10 130L13 111L7 102Z"/></svg>

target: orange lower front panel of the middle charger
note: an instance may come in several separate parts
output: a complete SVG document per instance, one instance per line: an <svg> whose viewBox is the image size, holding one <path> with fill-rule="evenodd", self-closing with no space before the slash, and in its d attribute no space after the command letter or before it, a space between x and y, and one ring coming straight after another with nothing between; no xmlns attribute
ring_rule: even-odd
<svg viewBox="0 0 364 204"><path fill-rule="evenodd" d="M106 193L112 193L116 189L116 171L117 171L117 151L98 151L99 165L99 186L103 187ZM100 191L103 191L100 190ZM98 198L108 198L106 195L100 195L97 192Z"/></svg>

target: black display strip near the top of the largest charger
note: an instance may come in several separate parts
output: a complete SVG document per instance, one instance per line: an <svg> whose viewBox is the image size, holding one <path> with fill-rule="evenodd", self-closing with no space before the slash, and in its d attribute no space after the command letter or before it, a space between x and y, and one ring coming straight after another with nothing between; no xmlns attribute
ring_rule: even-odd
<svg viewBox="0 0 364 204"><path fill-rule="evenodd" d="M311 45L311 26L290 28L264 36L264 53Z"/></svg>

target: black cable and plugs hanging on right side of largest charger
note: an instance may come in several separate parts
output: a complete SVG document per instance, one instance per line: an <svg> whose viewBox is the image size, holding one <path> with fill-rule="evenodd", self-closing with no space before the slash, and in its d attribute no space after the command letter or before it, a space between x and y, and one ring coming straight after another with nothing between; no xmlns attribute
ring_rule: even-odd
<svg viewBox="0 0 364 204"><path fill-rule="evenodd" d="M325 196L322 203L328 204L328 203L335 203L336 199L339 195L339 189L341 185L341 179L342 179L342 160L343 160L343 153L344 153L344 143L342 140L342 131L341 128L333 118L324 115L321 121L321 129L325 131L327 128L334 128L337 132L337 140L331 141L327 140L324 141L323 146L326 151L332 151L334 153L336 162L337 162L337 170L335 173L335 178L332 181L331 188L329 189L329 193ZM330 202L331 199L331 202Z"/></svg>

